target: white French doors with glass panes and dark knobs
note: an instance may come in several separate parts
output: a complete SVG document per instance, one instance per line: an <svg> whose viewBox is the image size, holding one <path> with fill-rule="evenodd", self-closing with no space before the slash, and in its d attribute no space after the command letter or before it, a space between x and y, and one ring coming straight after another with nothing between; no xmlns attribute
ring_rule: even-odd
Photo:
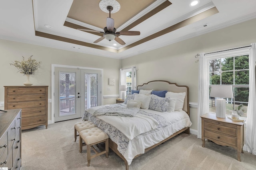
<svg viewBox="0 0 256 170"><path fill-rule="evenodd" d="M101 70L54 67L54 122L101 105Z"/></svg>

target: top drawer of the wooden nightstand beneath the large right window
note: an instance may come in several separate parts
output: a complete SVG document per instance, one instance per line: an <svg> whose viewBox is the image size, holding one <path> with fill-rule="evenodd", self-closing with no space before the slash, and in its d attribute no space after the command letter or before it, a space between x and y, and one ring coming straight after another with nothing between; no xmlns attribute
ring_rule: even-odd
<svg viewBox="0 0 256 170"><path fill-rule="evenodd" d="M227 127L218 123L204 122L204 128L236 137L236 128Z"/></svg>

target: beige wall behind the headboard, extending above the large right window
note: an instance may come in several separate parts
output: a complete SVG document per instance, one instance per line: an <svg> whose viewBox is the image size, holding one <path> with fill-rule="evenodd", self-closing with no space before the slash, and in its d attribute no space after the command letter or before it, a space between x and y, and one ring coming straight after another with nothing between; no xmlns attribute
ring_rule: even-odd
<svg viewBox="0 0 256 170"><path fill-rule="evenodd" d="M135 65L138 85L168 80L190 88L190 102L198 101L198 63L195 55L250 45L256 42L256 19L200 35L122 60L122 68ZM157 43L157 42L156 42ZM190 108L191 129L197 130L197 109Z"/></svg>

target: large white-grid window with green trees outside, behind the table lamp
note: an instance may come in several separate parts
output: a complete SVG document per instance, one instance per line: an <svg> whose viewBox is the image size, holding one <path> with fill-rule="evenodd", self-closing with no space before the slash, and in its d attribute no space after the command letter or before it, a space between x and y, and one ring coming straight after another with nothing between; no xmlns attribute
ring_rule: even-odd
<svg viewBox="0 0 256 170"><path fill-rule="evenodd" d="M211 85L232 85L234 98L226 99L226 114L230 115L233 108L243 104L244 115L247 117L249 98L249 55L221 57L209 59L209 92ZM209 110L216 112L215 98L210 97Z"/></svg>

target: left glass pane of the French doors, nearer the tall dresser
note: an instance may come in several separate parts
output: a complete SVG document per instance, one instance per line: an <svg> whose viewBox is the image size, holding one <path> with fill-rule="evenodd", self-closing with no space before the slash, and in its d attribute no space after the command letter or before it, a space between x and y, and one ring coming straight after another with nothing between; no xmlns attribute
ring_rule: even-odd
<svg viewBox="0 0 256 170"><path fill-rule="evenodd" d="M76 114L76 73L60 72L60 116Z"/></svg>

